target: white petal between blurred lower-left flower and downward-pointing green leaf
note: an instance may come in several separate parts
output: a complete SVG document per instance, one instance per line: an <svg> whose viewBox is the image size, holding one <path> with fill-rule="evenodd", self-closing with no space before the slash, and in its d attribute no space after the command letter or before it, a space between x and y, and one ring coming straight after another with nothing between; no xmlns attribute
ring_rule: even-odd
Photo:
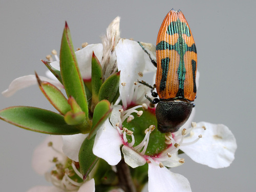
<svg viewBox="0 0 256 192"><path fill-rule="evenodd" d="M82 145L83 140L88 134L76 134L76 135L62 135L63 138L63 152L70 159L78 162L78 153Z"/></svg>

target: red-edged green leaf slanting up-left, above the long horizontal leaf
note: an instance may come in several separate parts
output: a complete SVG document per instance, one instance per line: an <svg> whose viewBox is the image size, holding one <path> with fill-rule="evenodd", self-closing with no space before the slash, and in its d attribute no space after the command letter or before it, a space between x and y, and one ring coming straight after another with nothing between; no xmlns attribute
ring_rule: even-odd
<svg viewBox="0 0 256 192"><path fill-rule="evenodd" d="M55 109L63 115L71 110L68 100L57 87L49 82L42 82L36 73L35 76L42 93L44 93Z"/></svg>

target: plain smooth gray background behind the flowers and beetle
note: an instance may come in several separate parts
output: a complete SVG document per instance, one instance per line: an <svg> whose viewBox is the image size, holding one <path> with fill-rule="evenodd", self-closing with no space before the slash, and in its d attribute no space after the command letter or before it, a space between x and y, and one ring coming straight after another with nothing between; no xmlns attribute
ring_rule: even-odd
<svg viewBox="0 0 256 192"><path fill-rule="evenodd" d="M255 191L255 1L0 1L0 90L17 77L45 75L40 59L59 51L65 20L74 47L98 43L121 16L121 37L156 42L167 12L181 9L198 50L200 87L196 122L222 123L237 138L236 159L226 169L210 169L188 157L174 169L193 191ZM51 109L37 86L11 98L0 95L0 108L14 105ZM33 149L46 135L0 121L0 191L26 191L48 184L31 167Z"/></svg>

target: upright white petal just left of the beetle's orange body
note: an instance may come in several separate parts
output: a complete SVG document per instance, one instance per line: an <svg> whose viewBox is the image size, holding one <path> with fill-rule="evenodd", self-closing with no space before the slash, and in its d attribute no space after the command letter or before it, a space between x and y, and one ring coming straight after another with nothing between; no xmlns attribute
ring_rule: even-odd
<svg viewBox="0 0 256 192"><path fill-rule="evenodd" d="M116 46L117 66L120 73L119 92L124 107L131 103L134 82L143 73L145 67L144 51L139 43L129 39L120 39ZM121 83L126 83L122 86ZM127 102L127 103L126 103Z"/></svg>

